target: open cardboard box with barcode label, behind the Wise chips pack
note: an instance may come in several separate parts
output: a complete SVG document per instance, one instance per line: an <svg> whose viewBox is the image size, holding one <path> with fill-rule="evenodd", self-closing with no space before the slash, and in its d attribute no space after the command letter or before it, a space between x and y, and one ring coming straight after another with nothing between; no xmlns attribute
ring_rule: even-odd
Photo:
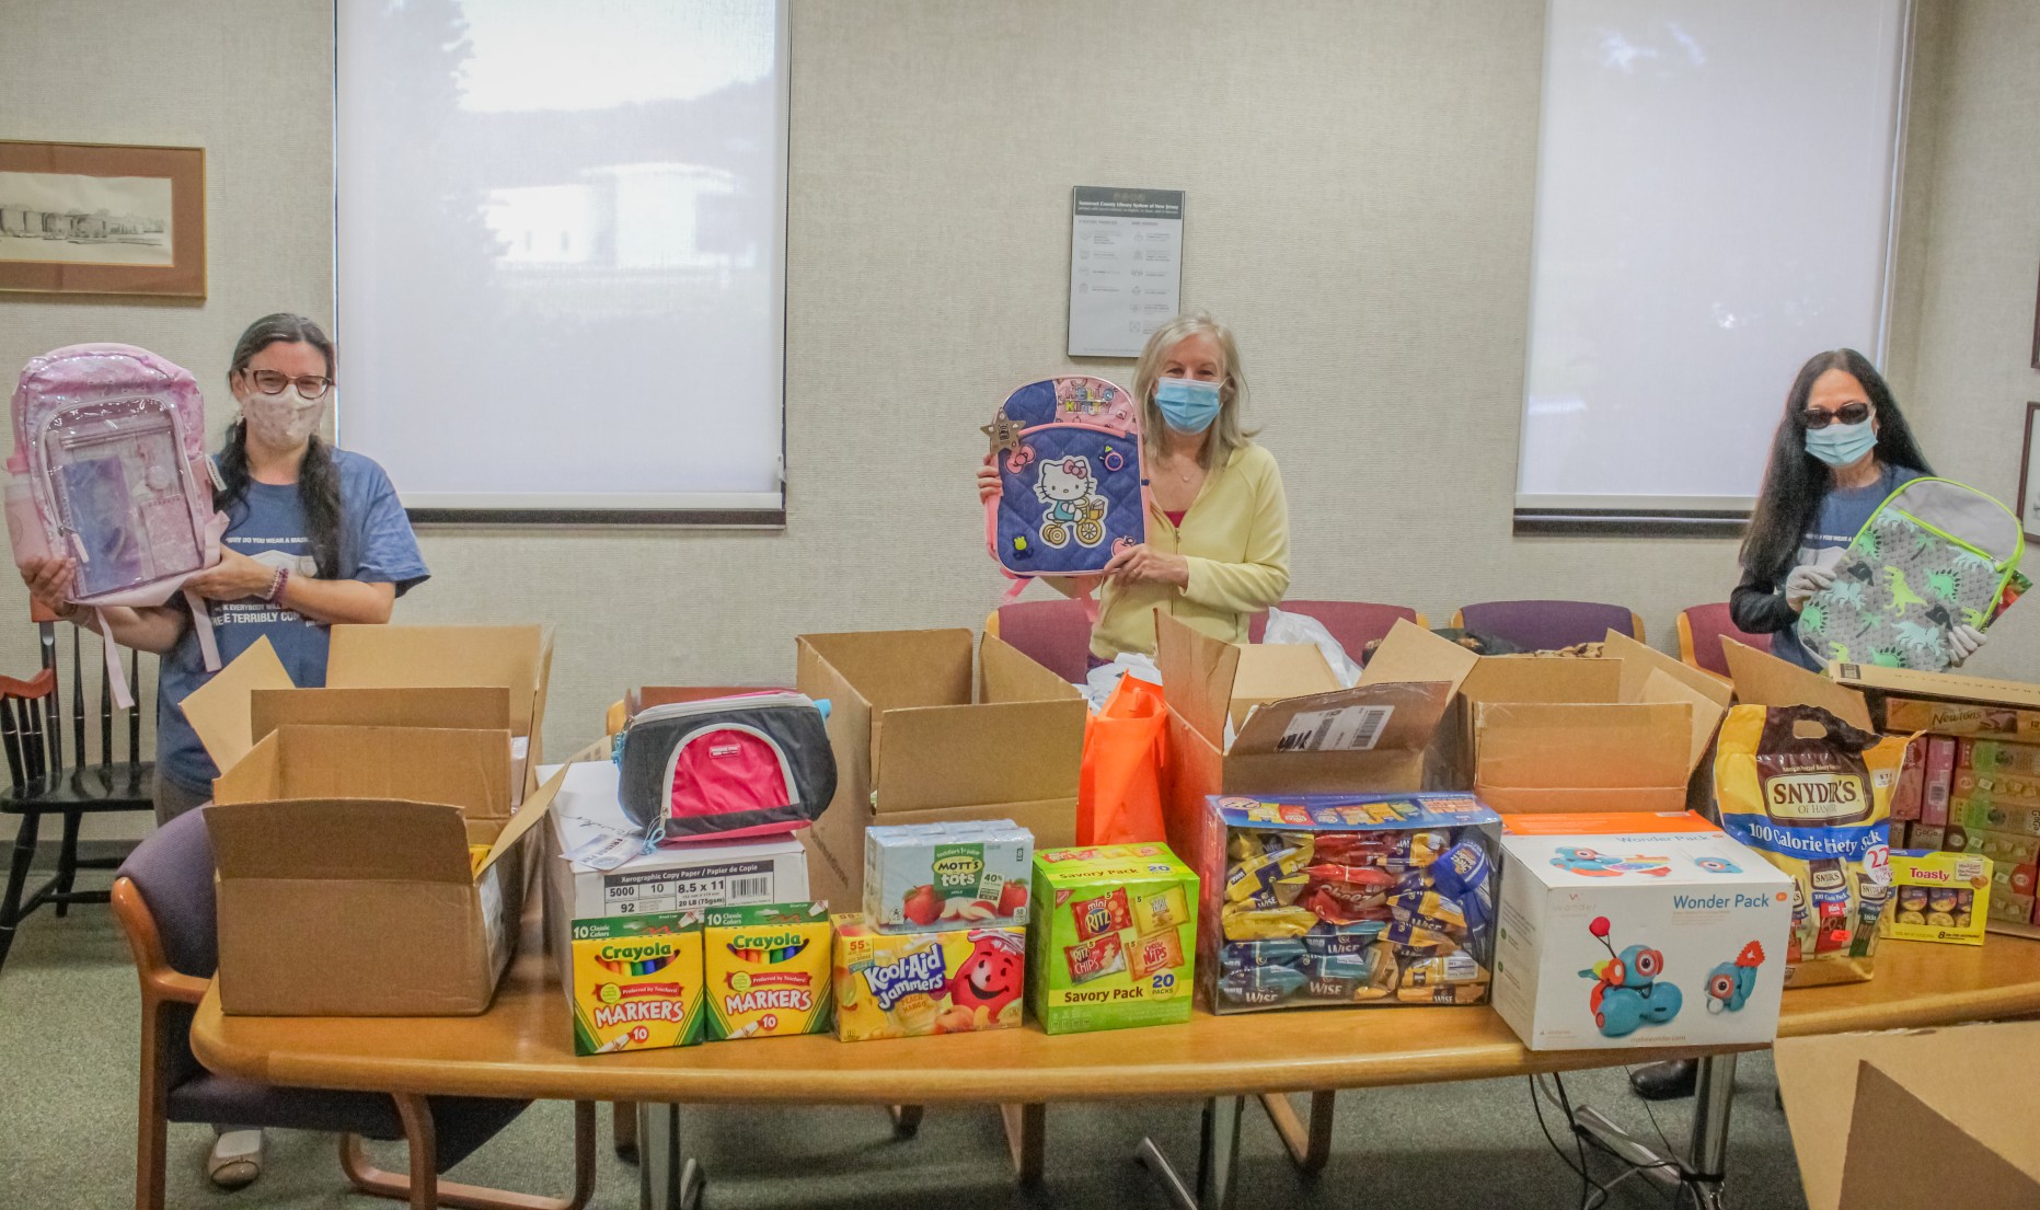
<svg viewBox="0 0 2040 1210"><path fill-rule="evenodd" d="M1422 677L1338 690L1330 669L1312 669L1312 659L1324 667L1316 647L1224 643L1167 614L1155 616L1155 641L1169 704L1163 822L1179 853L1200 843L1214 794L1422 790L1426 753L1465 675L1452 653L1467 655L1410 626L1375 661L1387 653L1393 663L1410 643L1446 649Z"/></svg>

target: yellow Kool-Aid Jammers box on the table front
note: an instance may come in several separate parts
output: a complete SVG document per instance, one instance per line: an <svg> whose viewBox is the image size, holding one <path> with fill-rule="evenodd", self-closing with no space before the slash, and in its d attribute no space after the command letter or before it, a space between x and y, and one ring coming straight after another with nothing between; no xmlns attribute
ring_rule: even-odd
<svg viewBox="0 0 2040 1210"><path fill-rule="evenodd" d="M879 932L836 916L836 1041L1016 1028L1026 996L1024 928Z"/></svg>

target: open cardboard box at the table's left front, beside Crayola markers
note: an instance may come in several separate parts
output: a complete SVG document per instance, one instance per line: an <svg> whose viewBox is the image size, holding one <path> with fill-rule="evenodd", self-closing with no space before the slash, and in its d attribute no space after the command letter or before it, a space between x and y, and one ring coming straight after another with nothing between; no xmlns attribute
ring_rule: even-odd
<svg viewBox="0 0 2040 1210"><path fill-rule="evenodd" d="M512 816L506 745L504 730L279 726L226 769L206 812L220 1008L486 1010L516 945L530 830L563 779Z"/></svg>

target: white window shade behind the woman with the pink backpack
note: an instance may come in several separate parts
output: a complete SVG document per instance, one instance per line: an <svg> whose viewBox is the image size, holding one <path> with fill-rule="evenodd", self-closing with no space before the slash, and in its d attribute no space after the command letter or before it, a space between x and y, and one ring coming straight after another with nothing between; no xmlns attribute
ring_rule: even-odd
<svg viewBox="0 0 2040 1210"><path fill-rule="evenodd" d="M422 520L783 518L785 12L339 0L341 445Z"/></svg>

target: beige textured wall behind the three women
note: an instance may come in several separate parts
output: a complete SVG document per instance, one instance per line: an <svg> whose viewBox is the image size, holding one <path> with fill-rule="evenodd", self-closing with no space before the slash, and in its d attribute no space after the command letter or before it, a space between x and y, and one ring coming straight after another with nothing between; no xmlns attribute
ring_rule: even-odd
<svg viewBox="0 0 2040 1210"><path fill-rule="evenodd" d="M1930 451L2009 496L2003 443L2034 394L2013 337L2040 239L2036 18L2022 0L1926 2L1948 39L1928 84L1948 129L1928 141L1932 188L1907 190L1926 231L1905 233L1895 349L1920 349L1922 371L1899 377ZM108 10L118 43L96 37ZM208 147L212 298L0 302L0 365L114 337L216 384L249 318L328 314L328 10L265 6L237 29L247 12L63 4L10 27L8 133ZM398 618L557 622L555 747L634 682L785 684L802 631L977 624L1004 586L965 484L977 424L1065 365L1069 188L1122 184L1187 190L1183 302L1240 333L1289 486L1291 596L1440 622L1469 600L1597 598L1669 647L1679 608L1726 600L1732 541L1510 533L1542 12L796 4L785 533L428 531L435 579ZM112 92L78 90L86 73ZM224 390L212 404L224 424ZM2036 637L2040 610L2013 612L1979 669L2018 673L2024 653L2032 671ZM31 665L27 624L0 631L0 667Z"/></svg>

